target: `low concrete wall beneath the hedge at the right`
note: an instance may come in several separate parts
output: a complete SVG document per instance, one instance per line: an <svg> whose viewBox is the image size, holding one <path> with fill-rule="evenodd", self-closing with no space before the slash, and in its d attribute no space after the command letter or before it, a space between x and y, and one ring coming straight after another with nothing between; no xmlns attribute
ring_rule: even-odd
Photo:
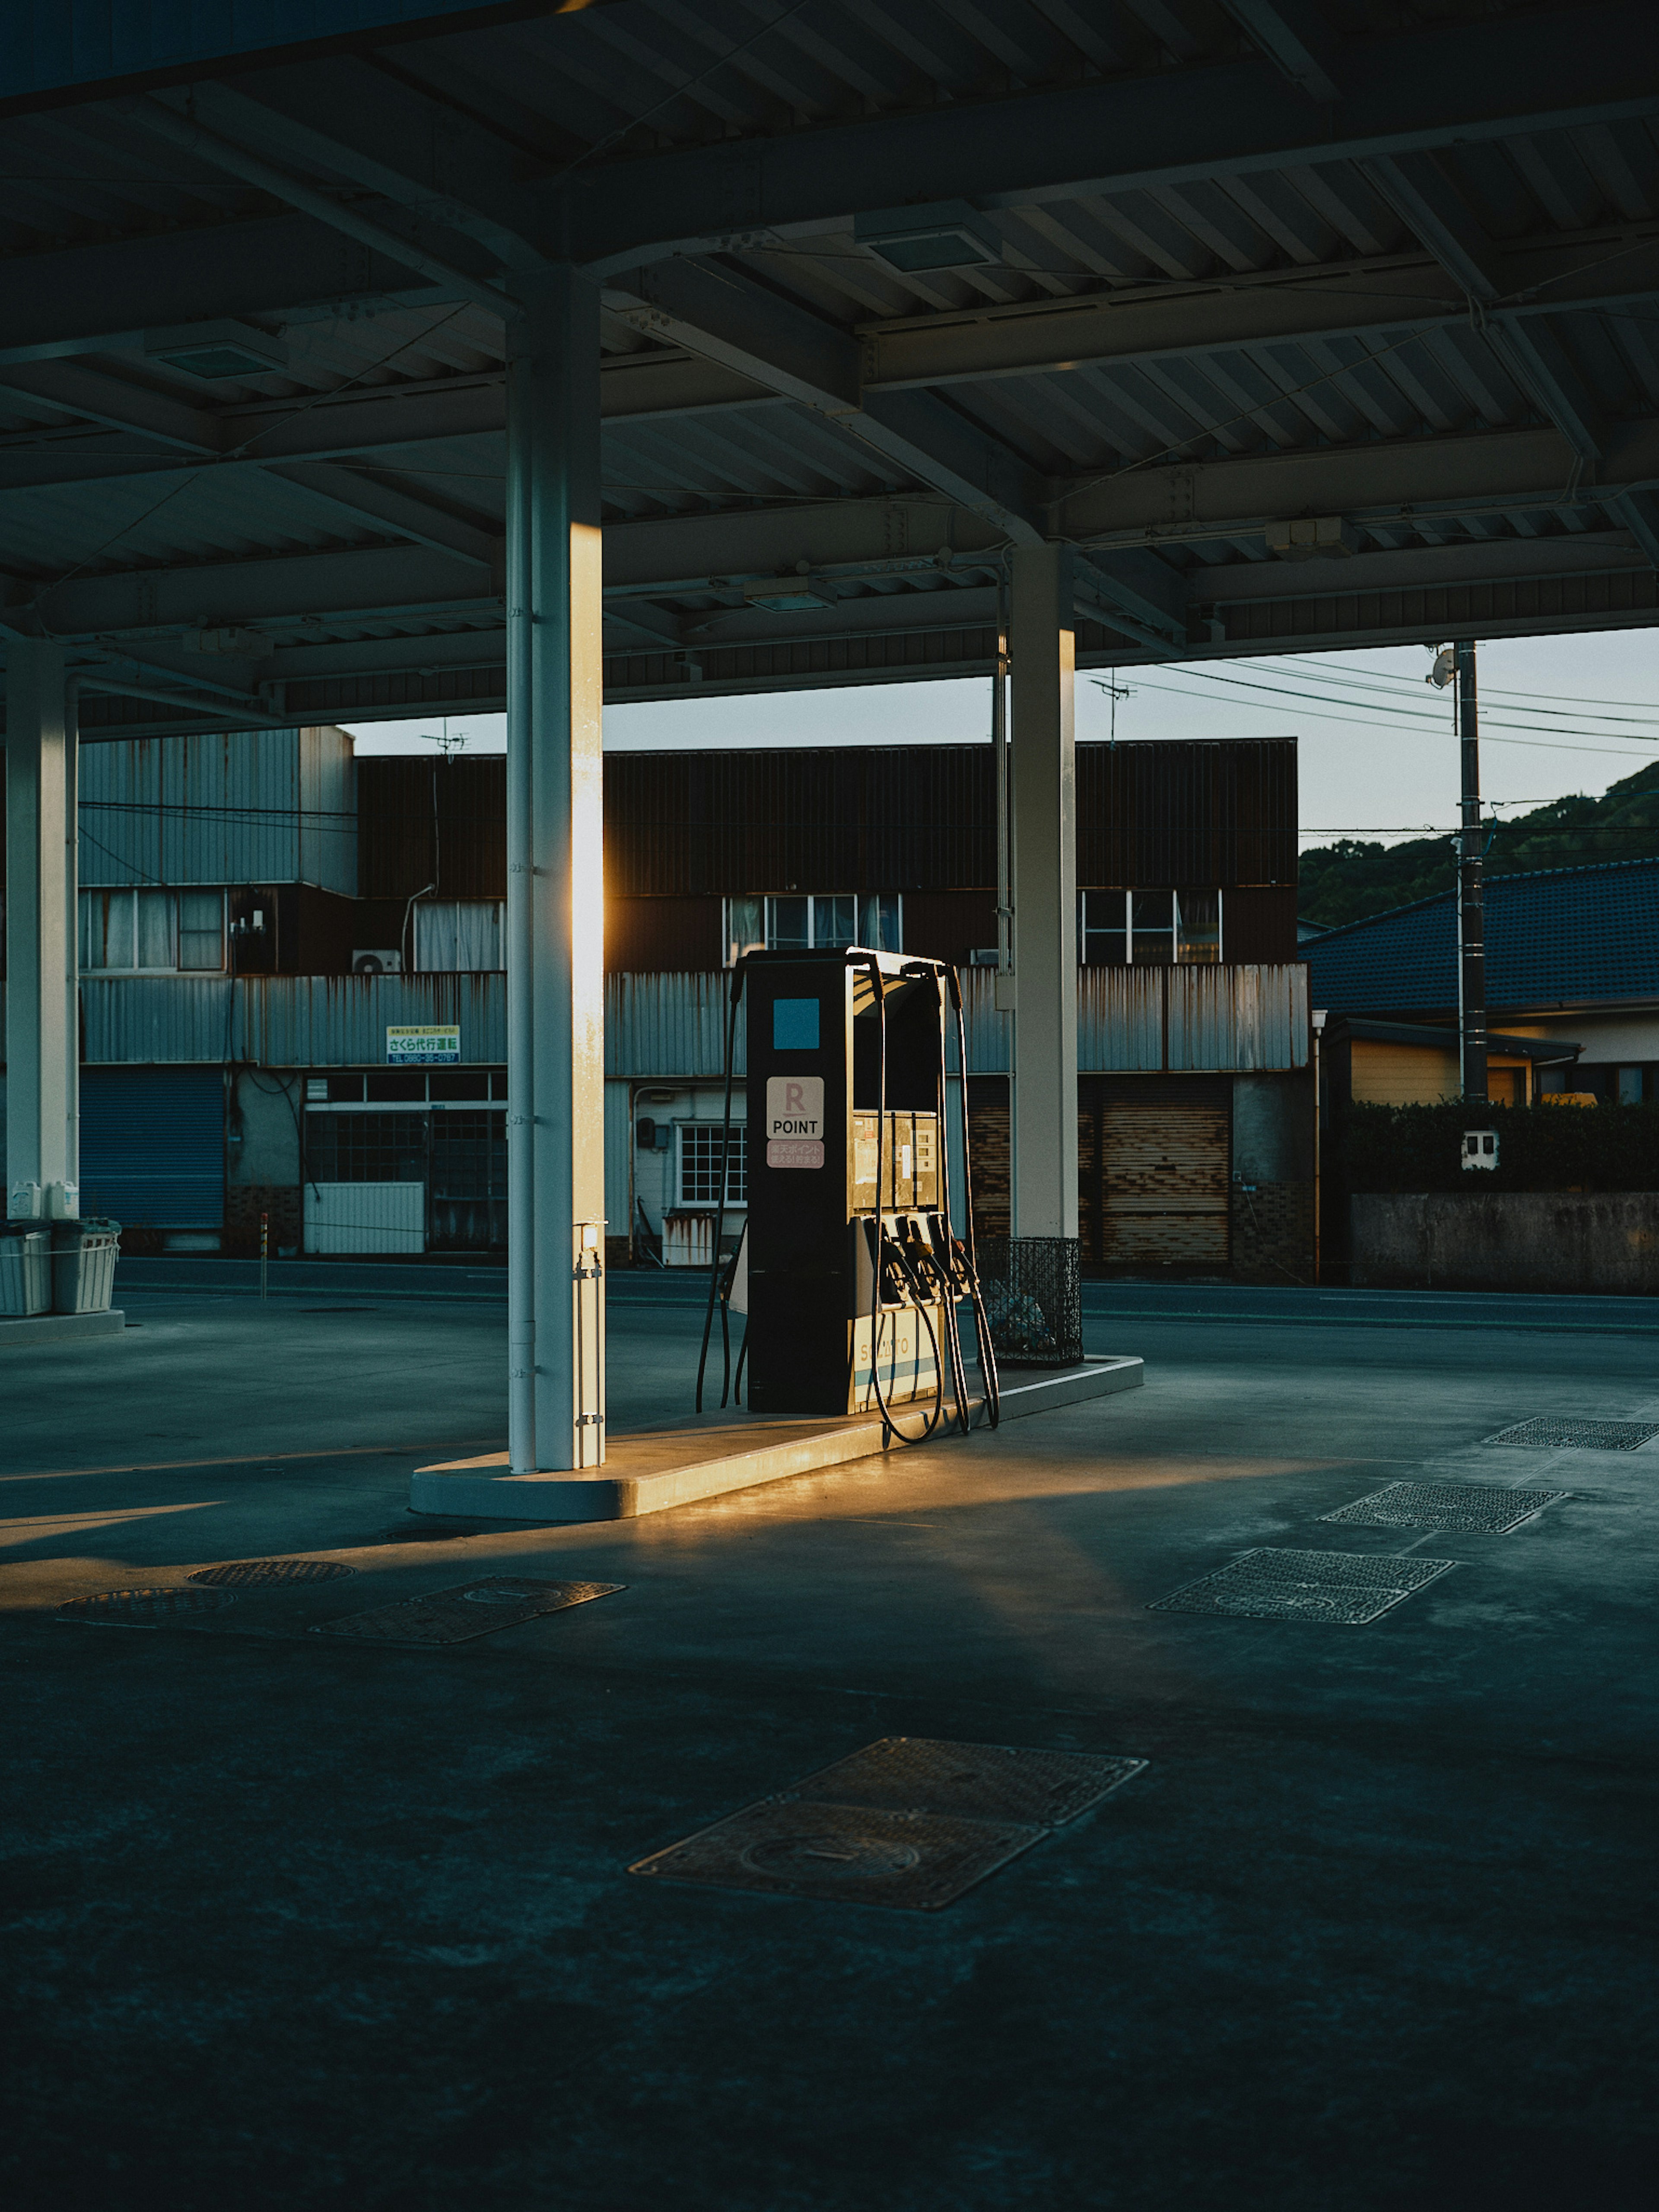
<svg viewBox="0 0 1659 2212"><path fill-rule="evenodd" d="M1659 1292L1659 1192L1498 1190L1349 1199L1365 1290Z"/></svg>

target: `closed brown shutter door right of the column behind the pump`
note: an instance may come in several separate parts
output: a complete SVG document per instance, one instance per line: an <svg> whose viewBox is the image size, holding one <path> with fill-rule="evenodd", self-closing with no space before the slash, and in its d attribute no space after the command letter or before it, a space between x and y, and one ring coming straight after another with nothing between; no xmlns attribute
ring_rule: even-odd
<svg viewBox="0 0 1659 2212"><path fill-rule="evenodd" d="M1164 1088L1164 1086L1159 1086ZM1175 1088L1175 1086L1170 1086ZM1206 1091L1212 1086L1206 1084ZM1106 1095L1086 1135L1095 1254L1108 1265L1225 1267L1230 1113L1212 1097ZM1082 1181L1082 1177L1079 1177Z"/></svg>

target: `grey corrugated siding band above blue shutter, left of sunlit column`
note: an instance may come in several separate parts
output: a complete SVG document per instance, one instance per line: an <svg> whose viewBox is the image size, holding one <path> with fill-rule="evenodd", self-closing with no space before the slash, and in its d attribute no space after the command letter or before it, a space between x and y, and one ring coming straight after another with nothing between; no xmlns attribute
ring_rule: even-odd
<svg viewBox="0 0 1659 2212"><path fill-rule="evenodd" d="M507 1060L502 975L135 975L80 995L88 1062L378 1066L403 1022L458 1022L465 1062Z"/></svg>

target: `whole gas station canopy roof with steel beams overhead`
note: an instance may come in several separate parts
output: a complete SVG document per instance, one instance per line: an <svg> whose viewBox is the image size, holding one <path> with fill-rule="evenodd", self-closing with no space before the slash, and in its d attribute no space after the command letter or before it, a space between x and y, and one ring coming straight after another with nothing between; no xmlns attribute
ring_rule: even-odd
<svg viewBox="0 0 1659 2212"><path fill-rule="evenodd" d="M1650 0L20 0L4 630L84 739L500 708L549 265L611 699L982 672L1042 542L1093 664L1650 624L1657 119Z"/></svg>

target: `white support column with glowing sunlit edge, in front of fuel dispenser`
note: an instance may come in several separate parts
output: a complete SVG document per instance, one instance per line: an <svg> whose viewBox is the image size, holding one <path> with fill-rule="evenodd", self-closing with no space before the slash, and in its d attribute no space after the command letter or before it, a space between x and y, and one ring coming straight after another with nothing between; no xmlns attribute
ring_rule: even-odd
<svg viewBox="0 0 1659 2212"><path fill-rule="evenodd" d="M604 1460L599 294L520 290L507 411L513 1473Z"/></svg>

